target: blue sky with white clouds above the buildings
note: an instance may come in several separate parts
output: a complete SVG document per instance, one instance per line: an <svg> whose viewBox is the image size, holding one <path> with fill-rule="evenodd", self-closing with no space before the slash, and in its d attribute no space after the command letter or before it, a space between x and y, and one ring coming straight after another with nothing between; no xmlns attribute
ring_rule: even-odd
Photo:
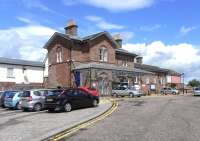
<svg viewBox="0 0 200 141"><path fill-rule="evenodd" d="M120 33L145 63L198 79L199 13L199 0L0 0L0 56L42 61L45 42L75 19L79 36Z"/></svg>

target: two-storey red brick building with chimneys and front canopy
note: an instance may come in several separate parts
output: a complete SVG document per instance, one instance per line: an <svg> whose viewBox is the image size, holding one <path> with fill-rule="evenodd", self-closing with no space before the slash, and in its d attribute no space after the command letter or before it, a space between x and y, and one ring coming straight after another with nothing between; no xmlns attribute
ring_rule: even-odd
<svg viewBox="0 0 200 141"><path fill-rule="evenodd" d="M134 67L135 62L142 63L142 57L122 49L119 35L112 37L108 32L100 32L81 38L73 20L65 27L65 34L54 33L44 48L48 50L46 87L95 85L101 94L107 95L115 85L142 85L139 78L157 76Z"/></svg>

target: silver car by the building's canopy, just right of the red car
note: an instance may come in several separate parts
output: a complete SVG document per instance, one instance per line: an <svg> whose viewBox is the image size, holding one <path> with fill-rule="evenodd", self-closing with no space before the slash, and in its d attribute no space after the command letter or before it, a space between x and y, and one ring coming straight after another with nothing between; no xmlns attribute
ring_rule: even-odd
<svg viewBox="0 0 200 141"><path fill-rule="evenodd" d="M112 96L118 97L118 96L130 96L130 97L140 97L143 95L141 90L136 89L134 86L130 87L116 87L112 90Z"/></svg>

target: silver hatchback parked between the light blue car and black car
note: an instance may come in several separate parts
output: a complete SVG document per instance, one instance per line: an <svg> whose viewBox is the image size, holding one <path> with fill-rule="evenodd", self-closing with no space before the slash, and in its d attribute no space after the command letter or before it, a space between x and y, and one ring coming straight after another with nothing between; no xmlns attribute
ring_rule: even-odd
<svg viewBox="0 0 200 141"><path fill-rule="evenodd" d="M44 103L48 94L48 89L32 89L22 93L22 110L41 111L45 109Z"/></svg>

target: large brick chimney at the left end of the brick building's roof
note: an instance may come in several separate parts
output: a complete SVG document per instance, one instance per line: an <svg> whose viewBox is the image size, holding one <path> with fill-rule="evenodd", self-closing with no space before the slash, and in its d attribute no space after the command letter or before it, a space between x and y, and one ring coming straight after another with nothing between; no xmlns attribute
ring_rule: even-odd
<svg viewBox="0 0 200 141"><path fill-rule="evenodd" d="M65 27L65 34L69 34L72 36L77 36L78 26L76 25L76 22L72 19L67 22L67 26Z"/></svg>

